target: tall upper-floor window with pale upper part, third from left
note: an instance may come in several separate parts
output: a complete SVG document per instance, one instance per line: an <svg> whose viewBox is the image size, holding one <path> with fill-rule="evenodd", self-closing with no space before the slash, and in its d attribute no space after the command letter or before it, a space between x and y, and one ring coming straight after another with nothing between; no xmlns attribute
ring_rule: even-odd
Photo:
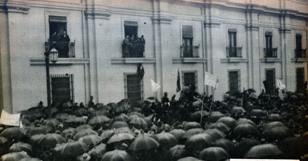
<svg viewBox="0 0 308 161"><path fill-rule="evenodd" d="M192 57L192 39L194 39L194 35L192 34L192 26L182 26L182 36L183 57Z"/></svg>

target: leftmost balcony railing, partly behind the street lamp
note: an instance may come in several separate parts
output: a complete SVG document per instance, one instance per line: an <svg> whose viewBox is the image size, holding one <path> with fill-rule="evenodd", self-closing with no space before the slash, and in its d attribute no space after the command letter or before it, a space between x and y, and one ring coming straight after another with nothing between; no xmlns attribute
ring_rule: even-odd
<svg viewBox="0 0 308 161"><path fill-rule="evenodd" d="M50 44L49 44L50 43ZM58 52L58 58L74 58L75 57L75 40L74 42L52 41L45 42L45 47L53 46Z"/></svg>

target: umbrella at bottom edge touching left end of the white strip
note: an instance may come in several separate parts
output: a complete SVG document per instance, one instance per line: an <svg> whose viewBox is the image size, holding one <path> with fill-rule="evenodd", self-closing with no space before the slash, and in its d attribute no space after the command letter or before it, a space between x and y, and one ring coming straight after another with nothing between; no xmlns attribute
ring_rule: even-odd
<svg viewBox="0 0 308 161"><path fill-rule="evenodd" d="M199 159L220 161L229 158L229 154L221 147L209 147L203 149L199 154Z"/></svg>

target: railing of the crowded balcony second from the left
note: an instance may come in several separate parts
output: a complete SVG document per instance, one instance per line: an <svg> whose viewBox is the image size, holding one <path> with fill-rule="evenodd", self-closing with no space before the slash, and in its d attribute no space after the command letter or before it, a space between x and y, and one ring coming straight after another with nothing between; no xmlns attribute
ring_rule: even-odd
<svg viewBox="0 0 308 161"><path fill-rule="evenodd" d="M123 58L143 58L145 57L144 44L122 44Z"/></svg>

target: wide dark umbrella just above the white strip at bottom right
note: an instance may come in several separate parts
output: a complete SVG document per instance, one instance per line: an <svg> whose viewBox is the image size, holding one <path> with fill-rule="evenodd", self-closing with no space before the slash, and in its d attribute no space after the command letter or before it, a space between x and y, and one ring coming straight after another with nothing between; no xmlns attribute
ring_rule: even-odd
<svg viewBox="0 0 308 161"><path fill-rule="evenodd" d="M262 144L257 145L249 149L245 158L252 159L274 159L276 157L282 156L283 152L279 150L276 145L273 144Z"/></svg>

